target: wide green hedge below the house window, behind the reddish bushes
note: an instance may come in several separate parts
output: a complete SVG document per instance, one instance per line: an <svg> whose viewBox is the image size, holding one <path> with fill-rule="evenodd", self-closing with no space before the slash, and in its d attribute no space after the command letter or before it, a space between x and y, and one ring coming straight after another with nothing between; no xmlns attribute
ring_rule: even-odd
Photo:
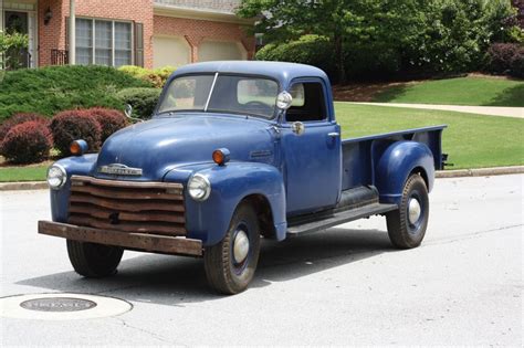
<svg viewBox="0 0 524 348"><path fill-rule="evenodd" d="M50 66L7 72L0 81L0 122L17 113L54 114L80 107L122 109L116 93L150 87L139 78L106 66Z"/></svg>

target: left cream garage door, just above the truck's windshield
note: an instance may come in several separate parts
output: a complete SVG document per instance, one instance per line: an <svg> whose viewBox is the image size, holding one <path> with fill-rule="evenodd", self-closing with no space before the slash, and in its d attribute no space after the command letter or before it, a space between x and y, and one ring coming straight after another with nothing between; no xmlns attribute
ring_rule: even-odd
<svg viewBox="0 0 524 348"><path fill-rule="evenodd" d="M153 50L154 67L180 66L191 62L191 49L184 38L154 36Z"/></svg>

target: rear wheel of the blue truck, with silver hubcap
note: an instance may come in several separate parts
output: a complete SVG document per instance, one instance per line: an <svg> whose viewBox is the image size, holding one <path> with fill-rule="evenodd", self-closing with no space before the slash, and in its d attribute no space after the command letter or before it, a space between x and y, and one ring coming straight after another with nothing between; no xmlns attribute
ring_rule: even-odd
<svg viewBox="0 0 524 348"><path fill-rule="evenodd" d="M386 214L389 240L399 249L419 246L426 234L428 218L428 188L422 177L415 173L406 181L399 209Z"/></svg>

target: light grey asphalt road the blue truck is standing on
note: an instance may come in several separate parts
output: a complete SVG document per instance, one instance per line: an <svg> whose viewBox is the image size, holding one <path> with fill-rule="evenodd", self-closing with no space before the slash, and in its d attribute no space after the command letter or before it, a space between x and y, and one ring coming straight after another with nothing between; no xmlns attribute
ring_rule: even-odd
<svg viewBox="0 0 524 348"><path fill-rule="evenodd" d="M392 250L373 218L264 243L254 284L214 295L196 259L127 253L85 280L61 239L36 234L45 191L0 192L1 296L114 296L123 315L0 318L11 345L523 345L524 176L439 179L422 246Z"/></svg>

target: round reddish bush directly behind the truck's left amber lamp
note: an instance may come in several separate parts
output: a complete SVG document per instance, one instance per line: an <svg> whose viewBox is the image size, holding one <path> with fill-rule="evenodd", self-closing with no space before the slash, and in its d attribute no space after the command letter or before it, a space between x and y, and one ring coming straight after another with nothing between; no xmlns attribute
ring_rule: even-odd
<svg viewBox="0 0 524 348"><path fill-rule="evenodd" d="M71 155L71 143L76 139L87 141L91 152L96 152L101 146L102 127L86 110L65 110L57 114L51 120L51 131L54 147L63 156Z"/></svg>

